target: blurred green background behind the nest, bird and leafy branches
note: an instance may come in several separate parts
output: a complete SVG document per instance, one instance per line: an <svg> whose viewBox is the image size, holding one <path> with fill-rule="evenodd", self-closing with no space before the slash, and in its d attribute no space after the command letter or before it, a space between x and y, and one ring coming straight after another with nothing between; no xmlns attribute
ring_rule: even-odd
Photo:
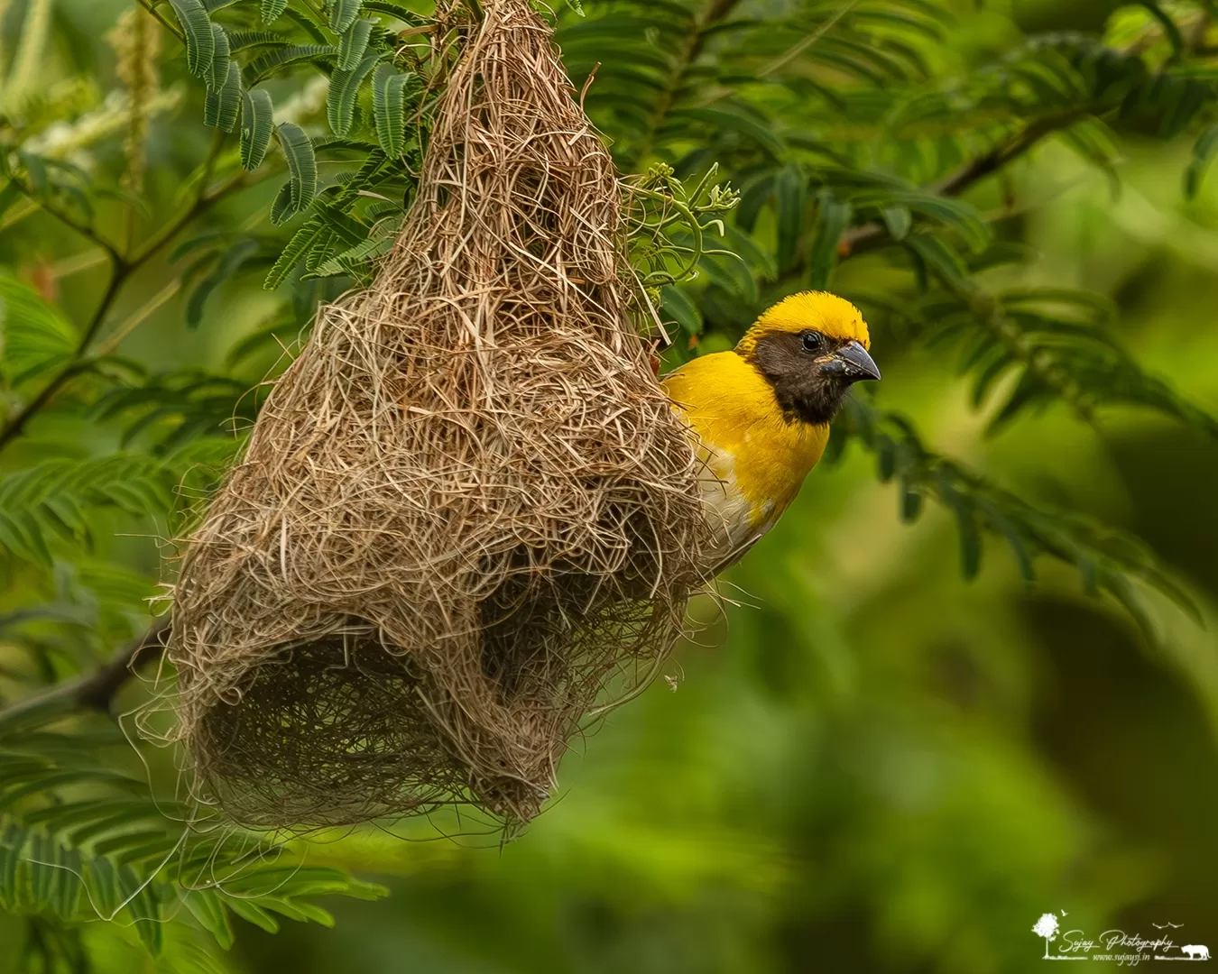
<svg viewBox="0 0 1218 974"><path fill-rule="evenodd" d="M104 35L124 6L54 4L40 84L83 74L106 90L114 57ZM1035 32L1100 37L1114 6L954 5L935 75L950 82ZM7 5L9 51L26 9ZM208 140L180 60L167 38L163 71L189 107L151 125L153 213L168 207ZM297 90L283 84L276 101ZM994 280L1106 296L1118 308L1112 334L1142 368L1218 412L1218 175L1185 198L1180 174L1195 135L1118 131L1119 187L1049 140L967 198L983 213L1006 197L1021 203L1001 234L1035 257ZM119 172L122 131L95 145L96 164ZM278 181L222 202L208 225L257 226ZM100 202L99 220L117 206ZM45 214L5 218L0 262L74 323L88 319L104 286L104 264L89 254ZM179 272L151 262L119 310L141 308ZM866 254L834 272L833 289L883 290L894 273L882 254ZM183 301L171 295L122 354L146 369L205 368L250 387L275 359L269 343L240 366L230 357L279 300L258 284L256 275L222 285L196 329L184 326ZM733 324L704 310L704 347L730 341ZM1000 403L972 407L960 356L882 309L868 318L884 375L877 404L910 416L934 450L1016 493L1140 536L1196 593L1208 628L1163 600L1147 636L1119 608L1085 595L1068 569L1038 562L1038 582L1026 584L998 545L965 581L952 519L931 508L903 524L893 485L878 482L875 458L851 446L814 471L781 526L731 571L728 604L695 606L705 628L667 665L671 681L575 743L555 797L523 835L503 845L493 833L447 839L436 830L451 822L413 822L319 841L308 862L351 869L391 894L328 902L334 929L286 923L272 935L236 920L227 969L1028 972L1041 963L1045 945L1032 927L1045 912L1068 913L1063 923L1091 933L1149 936L1151 924L1170 920L1184 924L1178 942L1218 945L1218 442L1149 410L1107 409L1088 426L1061 405L987 436ZM56 450L104 453L119 435L71 403L28 433L6 452L6 469ZM80 571L106 564L136 590L140 578L147 587L160 566L146 524L97 517ZM5 571L6 609L52 586L49 575ZM44 678L105 656L139 622L128 611L100 636L73 636L65 659L74 664L52 662ZM6 645L7 695L19 696L26 650ZM123 709L143 693L129 688ZM172 769L168 756L152 760L158 773ZM26 963L23 923L16 913L0 923L0 945L11 946L0 946L0 970ZM157 969L130 930L80 929L83 969Z"/></svg>

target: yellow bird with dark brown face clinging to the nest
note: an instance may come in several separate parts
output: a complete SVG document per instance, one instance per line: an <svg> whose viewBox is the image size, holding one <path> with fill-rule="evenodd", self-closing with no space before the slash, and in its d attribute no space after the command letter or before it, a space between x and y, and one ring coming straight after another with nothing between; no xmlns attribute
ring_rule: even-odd
<svg viewBox="0 0 1218 974"><path fill-rule="evenodd" d="M850 387L879 379L862 314L825 291L761 314L730 352L663 380L698 437L700 489L715 530L710 577L777 524L829 438Z"/></svg>

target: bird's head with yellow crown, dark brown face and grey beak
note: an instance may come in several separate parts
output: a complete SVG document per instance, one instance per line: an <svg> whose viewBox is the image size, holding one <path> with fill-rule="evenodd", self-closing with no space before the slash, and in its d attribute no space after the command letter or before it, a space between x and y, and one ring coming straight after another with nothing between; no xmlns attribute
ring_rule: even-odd
<svg viewBox="0 0 1218 974"><path fill-rule="evenodd" d="M822 425L837 415L850 386L879 379L870 347L867 323L854 304L826 291L801 291L764 312L736 352L770 384L784 416Z"/></svg>

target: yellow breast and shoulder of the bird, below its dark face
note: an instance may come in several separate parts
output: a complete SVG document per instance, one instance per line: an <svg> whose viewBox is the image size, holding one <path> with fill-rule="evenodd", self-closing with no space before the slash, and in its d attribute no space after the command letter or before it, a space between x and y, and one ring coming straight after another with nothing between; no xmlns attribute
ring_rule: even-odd
<svg viewBox="0 0 1218 974"><path fill-rule="evenodd" d="M698 435L710 472L726 485L725 503L743 500L753 528L772 524L821 459L828 426L787 420L770 384L736 352L695 358L664 387Z"/></svg>

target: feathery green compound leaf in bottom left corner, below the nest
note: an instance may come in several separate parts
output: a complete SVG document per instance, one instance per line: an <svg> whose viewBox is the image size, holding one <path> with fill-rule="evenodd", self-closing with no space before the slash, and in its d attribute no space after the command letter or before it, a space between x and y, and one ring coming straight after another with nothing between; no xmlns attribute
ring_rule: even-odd
<svg viewBox="0 0 1218 974"><path fill-rule="evenodd" d="M234 941L229 912L266 930L278 929L274 913L331 925L330 913L313 899L387 892L337 869L285 862L280 853L264 860L246 838L195 835L184 825L185 808L162 805L143 780L97 767L99 750L116 741L111 733L27 727L6 740L22 749L0 749L0 795L10 806L0 818L0 906L6 909L56 922L82 919L76 914L83 879L88 916L133 927L156 955L168 953L180 936L179 902L228 948ZM83 787L89 794L118 787L135 797L61 801L58 789L85 794ZM179 970L177 961L166 957L164 963Z"/></svg>

